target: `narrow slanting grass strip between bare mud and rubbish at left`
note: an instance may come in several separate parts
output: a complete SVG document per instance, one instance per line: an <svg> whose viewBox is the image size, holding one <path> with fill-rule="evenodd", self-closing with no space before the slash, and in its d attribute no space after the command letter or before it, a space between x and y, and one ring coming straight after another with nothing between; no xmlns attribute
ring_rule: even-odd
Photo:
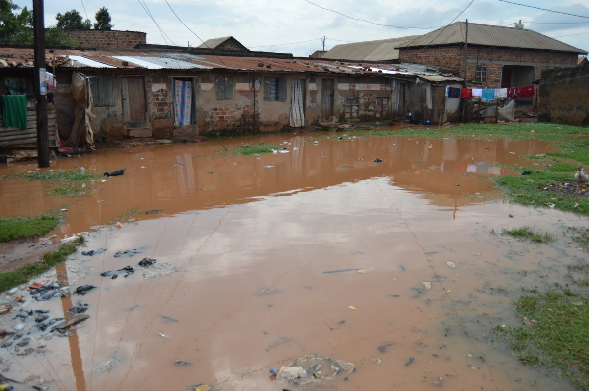
<svg viewBox="0 0 589 391"><path fill-rule="evenodd" d="M21 266L14 272L0 273L0 292L24 284L35 276L47 272L58 263L64 262L68 256L78 250L78 246L83 244L84 237L80 236L73 243L61 246L57 252L45 254L41 262Z"/></svg>

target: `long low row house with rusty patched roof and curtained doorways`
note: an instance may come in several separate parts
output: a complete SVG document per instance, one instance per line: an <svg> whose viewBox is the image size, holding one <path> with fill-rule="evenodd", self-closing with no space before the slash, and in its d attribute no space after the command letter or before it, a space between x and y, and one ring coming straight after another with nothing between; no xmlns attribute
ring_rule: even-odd
<svg viewBox="0 0 589 391"><path fill-rule="evenodd" d="M32 48L0 48L0 95L6 93L5 80L16 73L32 85L32 58ZM57 78L60 138L72 139L77 131L72 80L81 74L92 95L97 141L276 132L330 119L387 122L418 110L440 123L459 108L459 99L446 105L445 86L462 83L432 66L223 56L157 45L54 49L46 52L46 62ZM0 136L0 147L2 142Z"/></svg>

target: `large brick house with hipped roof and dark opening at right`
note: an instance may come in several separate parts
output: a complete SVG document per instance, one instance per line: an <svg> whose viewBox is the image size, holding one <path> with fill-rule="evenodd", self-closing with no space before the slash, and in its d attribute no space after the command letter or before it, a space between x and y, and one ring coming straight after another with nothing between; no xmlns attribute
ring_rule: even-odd
<svg viewBox="0 0 589 391"><path fill-rule="evenodd" d="M448 69L477 88L531 85L542 71L576 66L578 56L587 54L533 30L466 22L439 28L395 49L399 61ZM533 99L527 100L531 105Z"/></svg>

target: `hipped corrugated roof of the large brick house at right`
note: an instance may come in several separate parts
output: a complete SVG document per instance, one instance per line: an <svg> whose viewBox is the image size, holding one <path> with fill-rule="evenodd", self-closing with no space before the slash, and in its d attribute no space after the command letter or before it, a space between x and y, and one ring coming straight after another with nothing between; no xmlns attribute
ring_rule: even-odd
<svg viewBox="0 0 589 391"><path fill-rule="evenodd" d="M404 44L399 44L396 48L464 43L466 39L465 25L465 22L455 22L451 25L428 32L428 34L419 36ZM476 23L468 24L468 44L587 54L583 49L575 48L574 46L565 44L564 42L542 35L533 30L481 25Z"/></svg>

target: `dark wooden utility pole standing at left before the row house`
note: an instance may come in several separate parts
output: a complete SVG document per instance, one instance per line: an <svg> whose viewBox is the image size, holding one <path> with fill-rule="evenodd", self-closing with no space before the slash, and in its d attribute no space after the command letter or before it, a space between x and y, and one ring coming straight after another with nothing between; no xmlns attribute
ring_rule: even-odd
<svg viewBox="0 0 589 391"><path fill-rule="evenodd" d="M37 98L37 155L39 168L49 167L49 131L47 127L47 87L45 82L45 20L43 0L33 0L33 40L35 51L35 95Z"/></svg>

